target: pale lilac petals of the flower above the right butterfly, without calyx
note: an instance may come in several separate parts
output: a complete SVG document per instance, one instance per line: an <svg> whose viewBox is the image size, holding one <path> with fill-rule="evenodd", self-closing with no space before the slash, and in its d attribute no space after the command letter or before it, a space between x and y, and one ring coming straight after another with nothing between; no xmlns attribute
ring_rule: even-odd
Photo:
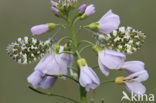
<svg viewBox="0 0 156 103"><path fill-rule="evenodd" d="M120 18L118 15L112 13L109 10L99 21L99 31L105 34L111 33L117 29L120 24Z"/></svg>

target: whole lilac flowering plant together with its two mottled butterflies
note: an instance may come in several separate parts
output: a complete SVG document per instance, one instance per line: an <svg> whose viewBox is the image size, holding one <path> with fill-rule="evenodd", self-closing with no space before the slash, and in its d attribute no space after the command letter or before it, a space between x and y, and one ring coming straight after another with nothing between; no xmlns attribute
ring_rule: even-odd
<svg viewBox="0 0 156 103"><path fill-rule="evenodd" d="M85 57L81 57L86 48L92 47L92 50L98 54L98 68L105 76L110 75L109 70L123 70L129 74L127 77L122 75L116 77L111 82L124 84L127 90L136 96L146 92L145 86L141 83L149 77L144 63L142 61L126 61L126 54L132 54L142 46L146 37L144 33L131 27L119 27L120 17L112 10L104 14L100 20L83 27L81 25L79 30L75 30L75 24L79 20L87 19L95 13L94 5L82 4L72 18L69 14L77 7L77 0L59 0L58 2L51 0L51 4L54 15L64 19L67 24L46 23L33 26L31 28L32 35L45 34L61 25L69 29L70 35L60 38L55 43L51 39L43 42L35 38L18 38L7 48L8 54L21 64L28 64L41 58L34 68L34 72L27 78L27 81L33 86L32 90L49 96L49 93L43 93L37 88L49 89L58 78L64 80L69 78L78 83L80 87L81 103L87 103L87 93L90 89L100 86L101 82ZM77 40L79 31L84 28L92 30L94 35L96 33L96 43ZM87 46L80 46L82 43ZM71 98L59 97L80 103Z"/></svg>

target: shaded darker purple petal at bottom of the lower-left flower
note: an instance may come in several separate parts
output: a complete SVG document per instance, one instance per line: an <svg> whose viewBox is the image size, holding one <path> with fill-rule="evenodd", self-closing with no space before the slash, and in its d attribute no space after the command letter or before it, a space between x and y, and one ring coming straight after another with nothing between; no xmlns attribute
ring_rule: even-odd
<svg viewBox="0 0 156 103"><path fill-rule="evenodd" d="M55 77L46 76L40 83L40 87L42 87L43 89L50 89L55 82L56 82Z"/></svg>

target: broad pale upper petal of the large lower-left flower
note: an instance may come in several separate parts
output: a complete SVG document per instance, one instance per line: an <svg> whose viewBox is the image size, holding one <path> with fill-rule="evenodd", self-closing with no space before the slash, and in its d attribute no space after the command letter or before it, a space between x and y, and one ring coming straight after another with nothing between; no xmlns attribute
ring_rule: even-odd
<svg viewBox="0 0 156 103"><path fill-rule="evenodd" d="M60 58L60 55L47 54L40 60L35 70L51 75L67 74L67 63Z"/></svg>

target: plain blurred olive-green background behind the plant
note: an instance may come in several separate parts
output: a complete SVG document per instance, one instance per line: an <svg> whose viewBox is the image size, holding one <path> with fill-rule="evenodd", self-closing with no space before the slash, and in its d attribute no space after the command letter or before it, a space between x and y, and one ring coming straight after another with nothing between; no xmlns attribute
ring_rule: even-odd
<svg viewBox="0 0 156 103"><path fill-rule="evenodd" d="M127 60L141 60L145 62L150 74L148 81L144 83L147 94L156 93L156 0L79 0L81 3L93 3L96 6L96 14L80 25L97 21L109 9L120 15L121 25L132 26L142 30L147 35L144 46L133 55L127 55ZM63 23L56 18L50 10L50 0L0 0L0 103L71 103L57 97L43 96L32 92L27 88L27 77L32 73L36 63L19 65L6 53L6 47L18 37L31 37L30 28L37 24L48 22ZM41 35L41 40L46 40L58 30L46 35ZM93 40L90 32L82 30L79 39ZM58 32L57 38L67 35L67 30ZM96 55L93 52L83 54L88 59L89 65L97 65ZM127 75L124 72L113 72L105 77L99 69L96 70L101 81L112 79L116 76ZM105 84L91 91L88 99L95 97L95 103L121 103L124 86L113 83ZM79 100L78 86L70 80L58 80L50 92L65 95ZM127 92L127 91L126 91ZM90 100L90 99L89 99ZM90 103L90 101L88 101ZM124 101L124 103L129 103ZM135 102L134 102L135 103ZM141 102L144 103L144 102ZM147 102L150 103L150 102Z"/></svg>

